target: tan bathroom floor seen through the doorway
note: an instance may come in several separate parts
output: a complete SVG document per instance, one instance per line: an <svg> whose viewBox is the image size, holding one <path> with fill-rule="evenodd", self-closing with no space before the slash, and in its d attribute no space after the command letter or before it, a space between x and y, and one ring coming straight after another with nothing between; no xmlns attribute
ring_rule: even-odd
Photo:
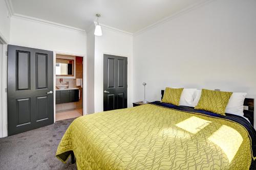
<svg viewBox="0 0 256 170"><path fill-rule="evenodd" d="M56 111L56 122L59 120L82 116L82 108Z"/></svg>

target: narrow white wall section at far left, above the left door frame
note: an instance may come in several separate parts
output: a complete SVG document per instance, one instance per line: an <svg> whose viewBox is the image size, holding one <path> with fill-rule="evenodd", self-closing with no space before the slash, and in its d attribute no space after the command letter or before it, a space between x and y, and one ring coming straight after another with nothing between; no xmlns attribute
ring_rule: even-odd
<svg viewBox="0 0 256 170"><path fill-rule="evenodd" d="M2 37L6 43L10 39L10 17L5 0L0 0L0 37Z"/></svg>

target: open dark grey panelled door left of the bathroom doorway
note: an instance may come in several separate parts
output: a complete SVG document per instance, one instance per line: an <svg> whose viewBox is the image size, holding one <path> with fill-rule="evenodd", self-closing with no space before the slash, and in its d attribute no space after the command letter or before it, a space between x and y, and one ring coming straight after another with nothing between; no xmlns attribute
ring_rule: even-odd
<svg viewBox="0 0 256 170"><path fill-rule="evenodd" d="M53 52L8 45L8 135L53 124Z"/></svg>

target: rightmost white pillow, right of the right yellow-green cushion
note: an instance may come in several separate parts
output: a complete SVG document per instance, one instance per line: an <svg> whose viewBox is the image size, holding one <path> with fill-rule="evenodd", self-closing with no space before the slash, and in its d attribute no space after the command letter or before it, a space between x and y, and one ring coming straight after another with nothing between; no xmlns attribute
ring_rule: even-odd
<svg viewBox="0 0 256 170"><path fill-rule="evenodd" d="M244 115L244 100L247 93L232 93L226 107L226 113Z"/></svg>

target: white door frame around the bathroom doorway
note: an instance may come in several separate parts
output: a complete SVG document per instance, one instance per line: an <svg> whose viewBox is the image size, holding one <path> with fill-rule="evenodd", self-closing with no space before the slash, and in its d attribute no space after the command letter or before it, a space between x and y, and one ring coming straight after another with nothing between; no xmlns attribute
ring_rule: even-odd
<svg viewBox="0 0 256 170"><path fill-rule="evenodd" d="M87 57L86 55L82 54L74 54L74 53L67 53L67 52L61 52L61 51L53 51L53 115L54 115L54 123L55 123L55 117L56 117L56 54L59 55L68 55L68 56L77 56L77 57L83 57L83 63L82 63L82 115L87 114L87 68L84 67L84 65L87 65Z"/></svg>

